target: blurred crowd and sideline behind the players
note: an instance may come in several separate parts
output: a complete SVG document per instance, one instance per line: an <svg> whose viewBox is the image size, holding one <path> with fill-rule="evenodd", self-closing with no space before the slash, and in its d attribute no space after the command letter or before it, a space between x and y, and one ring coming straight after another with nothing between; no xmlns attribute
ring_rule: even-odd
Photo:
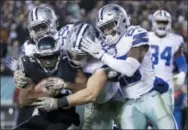
<svg viewBox="0 0 188 130"><path fill-rule="evenodd" d="M72 1L1 1L0 15L0 76L1 76L1 129L11 128L15 126L18 117L17 95L18 90L15 89L12 79L12 72L3 65L4 57L19 57L22 44L28 39L27 31L27 15L29 11L39 4L47 4L51 6L58 18L59 28L69 22L78 19L88 21L95 24L97 11L100 7L108 3L117 3L123 6L131 16L133 25L141 25L150 31L152 14L158 9L167 10L172 16L172 28L175 33L180 34L184 38L184 54L188 55L187 43L187 1L109 1L109 0L72 0ZM188 61L188 59L187 59ZM187 120L187 81L184 86L176 88L175 91L175 110L176 116L181 128L187 128L185 125ZM187 120L187 121L186 121Z"/></svg>

